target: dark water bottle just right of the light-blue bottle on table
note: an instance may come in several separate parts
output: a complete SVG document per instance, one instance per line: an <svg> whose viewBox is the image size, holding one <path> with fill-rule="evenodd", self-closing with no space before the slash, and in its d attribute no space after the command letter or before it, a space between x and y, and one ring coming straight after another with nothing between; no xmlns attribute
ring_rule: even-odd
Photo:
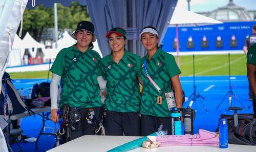
<svg viewBox="0 0 256 152"><path fill-rule="evenodd" d="M184 113L184 131L185 134L194 135L194 113L193 110L188 106Z"/></svg>

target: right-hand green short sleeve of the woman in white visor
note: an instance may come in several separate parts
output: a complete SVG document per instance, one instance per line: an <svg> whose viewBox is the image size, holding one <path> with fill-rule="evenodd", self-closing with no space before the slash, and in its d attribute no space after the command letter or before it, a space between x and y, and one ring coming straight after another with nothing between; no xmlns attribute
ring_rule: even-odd
<svg viewBox="0 0 256 152"><path fill-rule="evenodd" d="M180 68L178 67L175 58L172 54L165 55L165 65L169 77L172 78L178 74L181 74Z"/></svg>

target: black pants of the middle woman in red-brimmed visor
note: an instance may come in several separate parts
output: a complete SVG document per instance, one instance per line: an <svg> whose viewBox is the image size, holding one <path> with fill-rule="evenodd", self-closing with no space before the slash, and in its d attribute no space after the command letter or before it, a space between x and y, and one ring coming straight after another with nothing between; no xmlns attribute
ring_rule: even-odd
<svg viewBox="0 0 256 152"><path fill-rule="evenodd" d="M106 135L141 136L139 112L106 111L104 122Z"/></svg>

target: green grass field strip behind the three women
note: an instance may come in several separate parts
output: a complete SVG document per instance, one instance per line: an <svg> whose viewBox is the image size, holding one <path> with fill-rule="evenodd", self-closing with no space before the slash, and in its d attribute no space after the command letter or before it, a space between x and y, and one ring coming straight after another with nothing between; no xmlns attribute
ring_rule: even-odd
<svg viewBox="0 0 256 152"><path fill-rule="evenodd" d="M177 60L177 57L176 57ZM180 56L181 76L193 75L193 56ZM230 55L231 75L246 75L246 56ZM48 71L10 73L12 79L47 78ZM195 55L197 76L228 75L228 55ZM50 78L52 73L50 72Z"/></svg>

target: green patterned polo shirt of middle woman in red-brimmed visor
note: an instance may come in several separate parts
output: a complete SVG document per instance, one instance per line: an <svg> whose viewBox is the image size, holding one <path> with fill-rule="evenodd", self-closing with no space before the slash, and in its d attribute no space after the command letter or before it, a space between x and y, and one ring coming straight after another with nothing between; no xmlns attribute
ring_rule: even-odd
<svg viewBox="0 0 256 152"><path fill-rule="evenodd" d="M109 54L101 59L101 72L106 83L105 107L115 112L138 112L140 108L141 58L125 51L117 64Z"/></svg>

